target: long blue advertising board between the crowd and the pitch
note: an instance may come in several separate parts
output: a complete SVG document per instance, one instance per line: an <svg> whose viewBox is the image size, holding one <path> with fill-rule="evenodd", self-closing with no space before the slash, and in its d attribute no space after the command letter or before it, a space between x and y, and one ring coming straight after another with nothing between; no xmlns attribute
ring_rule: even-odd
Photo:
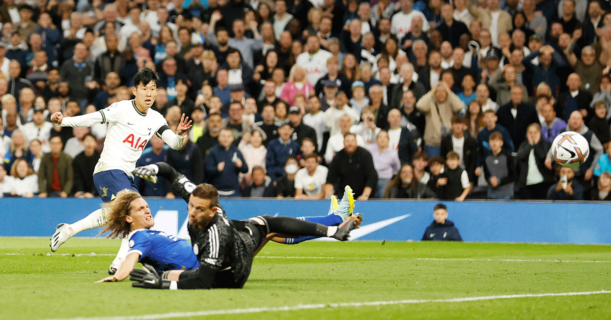
<svg viewBox="0 0 611 320"><path fill-rule="evenodd" d="M156 228L188 238L183 200L147 199ZM100 208L99 199L0 198L0 236L50 236L59 222L75 222ZM221 200L231 219L262 214L320 216L328 201ZM353 238L367 241L419 240L433 221L438 202L357 202L364 224ZM450 220L465 241L611 244L610 203L447 202ZM97 236L101 229L79 236Z"/></svg>

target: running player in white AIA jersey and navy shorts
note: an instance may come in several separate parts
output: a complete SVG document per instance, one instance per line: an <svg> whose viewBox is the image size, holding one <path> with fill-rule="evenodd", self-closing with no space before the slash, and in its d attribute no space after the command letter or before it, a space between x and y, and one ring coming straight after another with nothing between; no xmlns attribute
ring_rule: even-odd
<svg viewBox="0 0 611 320"><path fill-rule="evenodd" d="M185 142L186 134L191 128L191 121L185 114L182 115L174 133L163 115L150 109L155 103L158 81L159 78L153 70L143 68L134 76L134 100L119 101L106 109L77 117L64 117L61 112L51 115L51 122L56 126L89 127L96 123L108 123L104 148L93 171L93 183L104 202L111 201L123 189L137 191L131 172L136 169L136 161L153 134L157 134L175 150L180 150ZM55 252L77 233L103 227L106 222L107 217L100 208L74 224L57 225L51 237L51 251ZM122 243L111 269L120 265L127 249L127 243Z"/></svg>

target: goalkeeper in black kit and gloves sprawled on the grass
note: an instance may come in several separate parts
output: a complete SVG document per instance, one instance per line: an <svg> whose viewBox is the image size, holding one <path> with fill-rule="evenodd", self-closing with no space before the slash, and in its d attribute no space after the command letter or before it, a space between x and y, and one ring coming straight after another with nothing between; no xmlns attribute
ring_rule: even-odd
<svg viewBox="0 0 611 320"><path fill-rule="evenodd" d="M184 175L164 162L139 167L134 175L147 180L163 176L188 202L189 236L200 266L188 271L166 271L159 276L154 270L131 271L132 286L151 289L243 288L251 273L254 256L274 235L285 238L302 236L331 237L346 241L360 224L360 215L353 215L354 199L346 187L345 199L337 211L349 216L338 226L327 227L293 217L257 216L246 220L229 220L219 204L219 194L207 183L195 186ZM348 212L349 211L349 212Z"/></svg>

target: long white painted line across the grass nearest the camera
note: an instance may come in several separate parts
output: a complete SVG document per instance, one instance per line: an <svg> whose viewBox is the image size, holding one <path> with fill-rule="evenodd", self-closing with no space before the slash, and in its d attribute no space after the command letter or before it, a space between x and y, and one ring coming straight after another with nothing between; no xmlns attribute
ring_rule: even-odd
<svg viewBox="0 0 611 320"><path fill-rule="evenodd" d="M67 319L46 319L46 320L155 320L166 318L188 318L195 316L214 316L214 315L238 315L245 313L262 313L276 311L298 311L312 310L322 308L347 308L347 307L371 307L379 305L402 305L402 304L434 304L447 302L472 302L482 300L497 300L497 299L517 299L530 297L557 297L557 296L589 296L592 294L609 294L611 291L587 291L575 293L540 293L540 294L509 294L505 296L483 296L483 297L463 297L452 299L408 299L394 301L371 301L371 302L342 302L339 304L308 304L308 305L293 305L284 307L260 307L260 308L240 308L240 309L225 309L225 310L202 310L192 312L170 312L159 313L156 315L140 315L140 316L115 316L115 317L94 317L94 318L67 318Z"/></svg>

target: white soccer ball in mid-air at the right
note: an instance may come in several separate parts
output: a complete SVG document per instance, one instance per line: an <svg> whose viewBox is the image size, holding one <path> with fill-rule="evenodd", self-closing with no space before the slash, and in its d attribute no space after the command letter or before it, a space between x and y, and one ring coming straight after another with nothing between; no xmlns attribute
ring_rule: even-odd
<svg viewBox="0 0 611 320"><path fill-rule="evenodd" d="M563 167L576 168L584 164L590 155L588 140L579 133L566 131L554 139L554 159Z"/></svg>

